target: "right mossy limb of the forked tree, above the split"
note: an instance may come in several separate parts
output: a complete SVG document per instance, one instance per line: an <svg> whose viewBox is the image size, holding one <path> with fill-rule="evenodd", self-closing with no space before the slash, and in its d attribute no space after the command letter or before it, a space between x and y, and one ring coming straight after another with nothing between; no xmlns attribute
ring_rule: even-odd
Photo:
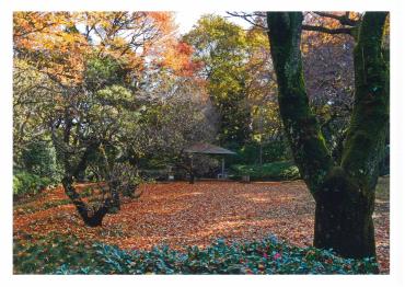
<svg viewBox="0 0 405 287"><path fill-rule="evenodd" d="M383 57L385 12L367 12L355 48L355 106L342 167L363 191L375 187L389 130L389 71Z"/></svg>

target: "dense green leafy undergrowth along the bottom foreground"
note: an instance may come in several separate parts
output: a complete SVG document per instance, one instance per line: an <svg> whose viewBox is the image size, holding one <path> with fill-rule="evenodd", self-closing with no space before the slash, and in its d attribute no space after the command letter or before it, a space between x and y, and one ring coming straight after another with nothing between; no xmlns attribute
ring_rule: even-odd
<svg viewBox="0 0 405 287"><path fill-rule="evenodd" d="M297 248L269 236L261 241L218 240L185 252L167 246L125 251L100 242L51 234L14 241L15 274L370 274L370 260Z"/></svg>

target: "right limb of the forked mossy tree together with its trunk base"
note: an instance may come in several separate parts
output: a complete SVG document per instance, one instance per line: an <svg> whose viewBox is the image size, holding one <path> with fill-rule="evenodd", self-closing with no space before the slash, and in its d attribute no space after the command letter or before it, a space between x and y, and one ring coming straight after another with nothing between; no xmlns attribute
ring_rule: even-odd
<svg viewBox="0 0 405 287"><path fill-rule="evenodd" d="M375 257L374 192L389 123L389 78L381 39L386 13L368 12L355 48L355 106L340 169L316 203L315 246Z"/></svg>

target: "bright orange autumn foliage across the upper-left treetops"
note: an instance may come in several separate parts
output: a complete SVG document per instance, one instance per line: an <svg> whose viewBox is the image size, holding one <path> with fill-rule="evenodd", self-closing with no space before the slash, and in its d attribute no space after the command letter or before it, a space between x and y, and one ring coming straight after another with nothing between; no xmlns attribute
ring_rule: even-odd
<svg viewBox="0 0 405 287"><path fill-rule="evenodd" d="M15 55L65 85L83 80L92 55L112 56L136 71L147 59L190 70L172 12L15 12L13 21Z"/></svg>

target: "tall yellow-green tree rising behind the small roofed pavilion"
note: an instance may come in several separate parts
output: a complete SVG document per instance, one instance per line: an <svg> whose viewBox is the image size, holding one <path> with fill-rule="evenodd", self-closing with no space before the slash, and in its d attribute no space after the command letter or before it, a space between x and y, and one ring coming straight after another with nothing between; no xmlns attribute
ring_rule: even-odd
<svg viewBox="0 0 405 287"><path fill-rule="evenodd" d="M242 146L250 138L245 62L248 42L242 27L218 15L204 15L184 41L194 47L208 93L220 116L219 141Z"/></svg>

